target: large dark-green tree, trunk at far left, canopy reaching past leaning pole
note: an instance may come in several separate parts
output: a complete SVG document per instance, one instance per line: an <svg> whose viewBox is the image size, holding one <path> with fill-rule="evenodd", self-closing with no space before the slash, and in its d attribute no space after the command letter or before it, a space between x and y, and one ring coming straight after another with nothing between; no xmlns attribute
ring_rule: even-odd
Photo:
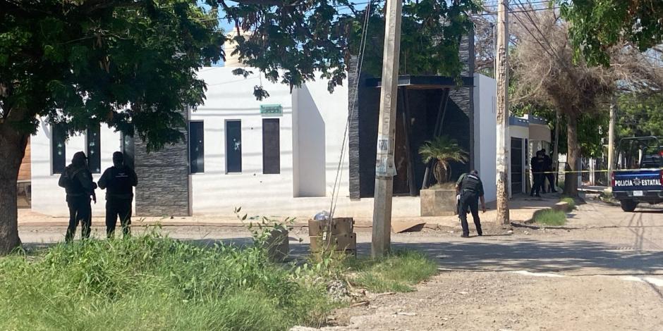
<svg viewBox="0 0 663 331"><path fill-rule="evenodd" d="M408 34L426 32L401 48L418 56L408 71L460 73L457 42L474 1L407 2ZM181 111L204 101L196 71L224 56L220 20L251 32L234 40L248 67L291 87L322 73L331 90L353 70L365 14L348 0L0 0L0 8L0 254L20 245L16 180L39 123L69 134L106 123L159 149L184 138ZM381 58L375 36L384 33L382 13L368 12L367 62Z"/></svg>

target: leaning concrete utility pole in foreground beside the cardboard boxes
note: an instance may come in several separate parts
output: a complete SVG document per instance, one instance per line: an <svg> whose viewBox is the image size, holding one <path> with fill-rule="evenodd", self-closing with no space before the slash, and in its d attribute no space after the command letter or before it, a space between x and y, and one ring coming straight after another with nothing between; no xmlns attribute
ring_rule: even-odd
<svg viewBox="0 0 663 331"><path fill-rule="evenodd" d="M387 254L391 245L391 194L396 175L394 144L401 51L401 6L401 0L387 0L371 240L371 254L374 257Z"/></svg>

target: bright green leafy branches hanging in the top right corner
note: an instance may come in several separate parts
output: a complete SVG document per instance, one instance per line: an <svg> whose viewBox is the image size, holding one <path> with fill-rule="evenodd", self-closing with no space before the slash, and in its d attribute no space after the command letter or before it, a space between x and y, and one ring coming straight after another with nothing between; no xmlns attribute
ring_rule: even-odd
<svg viewBox="0 0 663 331"><path fill-rule="evenodd" d="M576 59L590 65L609 65L610 49L628 42L640 51L663 54L663 1L557 0L571 23L569 35Z"/></svg>

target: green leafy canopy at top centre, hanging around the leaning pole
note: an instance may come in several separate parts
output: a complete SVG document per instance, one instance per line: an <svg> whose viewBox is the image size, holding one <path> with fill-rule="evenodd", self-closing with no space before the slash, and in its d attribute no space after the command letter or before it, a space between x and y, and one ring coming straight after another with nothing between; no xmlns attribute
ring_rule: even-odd
<svg viewBox="0 0 663 331"><path fill-rule="evenodd" d="M331 91L346 77L350 56L360 54L363 37L363 71L376 76L382 72L386 10L382 1L370 1L361 10L348 0L293 1L283 7L220 3L238 32L250 31L248 37L238 33L233 38L236 54L272 82L299 86L320 70L330 79ZM470 13L480 8L478 0L404 0L399 72L459 76L463 68L459 43L473 27Z"/></svg>

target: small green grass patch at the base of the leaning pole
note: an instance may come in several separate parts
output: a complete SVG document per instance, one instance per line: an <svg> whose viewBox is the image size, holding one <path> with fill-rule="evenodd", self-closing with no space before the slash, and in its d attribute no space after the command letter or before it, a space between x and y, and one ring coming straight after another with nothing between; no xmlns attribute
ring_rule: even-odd
<svg viewBox="0 0 663 331"><path fill-rule="evenodd" d="M437 263L418 251L396 251L380 259L346 261L355 272L351 282L371 292L411 292L413 285L437 275Z"/></svg>

